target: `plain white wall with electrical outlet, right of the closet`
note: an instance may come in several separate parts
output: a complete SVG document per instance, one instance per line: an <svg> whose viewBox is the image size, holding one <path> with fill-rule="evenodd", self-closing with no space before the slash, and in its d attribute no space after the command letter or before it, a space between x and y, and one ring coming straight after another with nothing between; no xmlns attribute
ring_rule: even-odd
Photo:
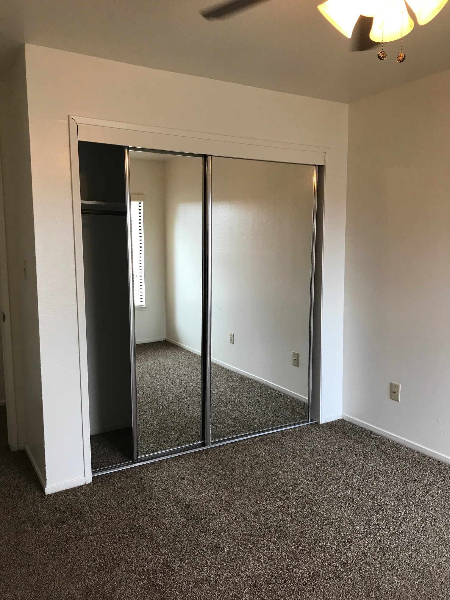
<svg viewBox="0 0 450 600"><path fill-rule="evenodd" d="M449 98L447 71L350 105L343 388L350 418L448 460Z"/></svg>

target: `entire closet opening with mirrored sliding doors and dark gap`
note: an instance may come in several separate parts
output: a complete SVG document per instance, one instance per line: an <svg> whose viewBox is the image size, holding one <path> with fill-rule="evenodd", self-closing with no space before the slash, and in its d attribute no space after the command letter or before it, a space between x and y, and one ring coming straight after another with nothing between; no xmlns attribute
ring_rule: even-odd
<svg viewBox="0 0 450 600"><path fill-rule="evenodd" d="M92 475L312 422L318 167L79 164Z"/></svg>

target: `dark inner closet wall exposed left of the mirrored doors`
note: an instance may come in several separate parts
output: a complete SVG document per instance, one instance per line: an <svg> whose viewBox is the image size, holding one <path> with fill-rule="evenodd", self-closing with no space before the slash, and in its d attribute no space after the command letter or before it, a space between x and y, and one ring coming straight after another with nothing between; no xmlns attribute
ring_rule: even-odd
<svg viewBox="0 0 450 600"><path fill-rule="evenodd" d="M92 435L131 426L124 148L79 142L79 164Z"/></svg>

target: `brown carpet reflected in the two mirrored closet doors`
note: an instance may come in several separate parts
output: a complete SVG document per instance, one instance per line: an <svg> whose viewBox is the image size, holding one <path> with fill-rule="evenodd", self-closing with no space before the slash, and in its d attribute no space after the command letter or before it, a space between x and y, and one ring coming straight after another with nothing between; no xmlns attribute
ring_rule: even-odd
<svg viewBox="0 0 450 600"><path fill-rule="evenodd" d="M140 455L201 440L200 379L200 356L167 341L136 346ZM305 402L212 364L212 439L307 419Z"/></svg>

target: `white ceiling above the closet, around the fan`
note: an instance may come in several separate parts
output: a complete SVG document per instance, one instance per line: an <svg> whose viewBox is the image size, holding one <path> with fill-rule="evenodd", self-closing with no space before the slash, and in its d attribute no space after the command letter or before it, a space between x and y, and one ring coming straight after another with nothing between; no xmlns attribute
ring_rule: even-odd
<svg viewBox="0 0 450 600"><path fill-rule="evenodd" d="M450 2L431 23L377 50L349 40L317 10L318 0L271 0L232 19L207 22L214 0L0 0L0 73L23 42L349 102L450 69ZM380 108L382 110L382 108Z"/></svg>

